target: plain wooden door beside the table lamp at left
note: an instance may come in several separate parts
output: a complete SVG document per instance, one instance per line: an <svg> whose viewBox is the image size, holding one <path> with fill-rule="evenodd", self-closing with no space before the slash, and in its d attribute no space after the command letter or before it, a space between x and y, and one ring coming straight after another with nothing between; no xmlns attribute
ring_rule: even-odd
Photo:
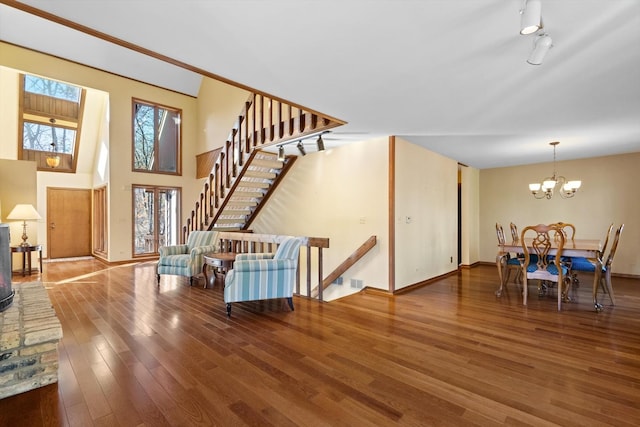
<svg viewBox="0 0 640 427"><path fill-rule="evenodd" d="M48 257L91 255L91 190L47 188Z"/></svg>

